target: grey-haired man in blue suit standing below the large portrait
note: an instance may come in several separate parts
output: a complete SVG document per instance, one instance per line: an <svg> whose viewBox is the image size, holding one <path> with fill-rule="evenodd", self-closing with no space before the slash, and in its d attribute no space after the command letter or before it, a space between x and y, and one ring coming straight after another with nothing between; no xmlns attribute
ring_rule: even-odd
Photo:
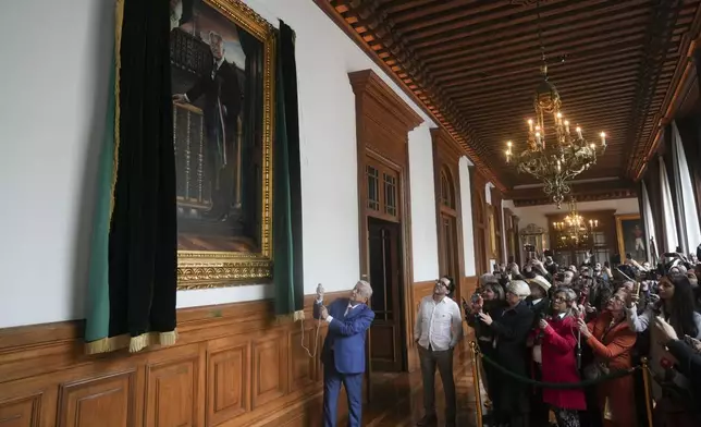
<svg viewBox="0 0 701 427"><path fill-rule="evenodd" d="M372 288L365 280L356 283L347 298L323 306L323 288L317 289L313 317L329 324L321 351L323 363L323 426L335 427L341 385L348 396L348 426L362 422L362 374L365 373L366 331L374 313L368 307Z"/></svg>

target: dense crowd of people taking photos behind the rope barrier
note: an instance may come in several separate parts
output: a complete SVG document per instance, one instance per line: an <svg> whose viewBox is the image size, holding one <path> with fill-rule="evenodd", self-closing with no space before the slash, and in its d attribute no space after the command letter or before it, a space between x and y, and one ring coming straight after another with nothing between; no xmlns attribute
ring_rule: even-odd
<svg viewBox="0 0 701 427"><path fill-rule="evenodd" d="M483 355L485 424L645 426L644 357L653 425L700 426L698 254L654 266L589 259L500 265L463 301Z"/></svg>

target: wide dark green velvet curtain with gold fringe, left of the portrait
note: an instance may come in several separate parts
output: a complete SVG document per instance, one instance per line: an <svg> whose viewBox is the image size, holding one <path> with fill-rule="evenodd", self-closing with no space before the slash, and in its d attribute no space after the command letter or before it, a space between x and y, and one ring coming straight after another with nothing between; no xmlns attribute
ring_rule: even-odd
<svg viewBox="0 0 701 427"><path fill-rule="evenodd" d="M86 352L175 342L177 225L169 2L118 0Z"/></svg>

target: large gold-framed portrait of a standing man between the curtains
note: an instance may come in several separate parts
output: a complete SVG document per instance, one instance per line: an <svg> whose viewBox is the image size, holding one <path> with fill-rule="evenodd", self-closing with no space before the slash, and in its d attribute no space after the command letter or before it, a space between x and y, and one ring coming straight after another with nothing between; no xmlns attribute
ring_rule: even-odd
<svg viewBox="0 0 701 427"><path fill-rule="evenodd" d="M238 0L170 0L179 289L272 267L273 28Z"/></svg>

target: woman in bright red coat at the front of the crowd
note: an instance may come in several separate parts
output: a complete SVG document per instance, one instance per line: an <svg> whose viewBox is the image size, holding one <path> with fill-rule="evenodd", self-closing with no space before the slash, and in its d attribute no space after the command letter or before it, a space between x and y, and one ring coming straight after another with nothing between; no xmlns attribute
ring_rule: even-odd
<svg viewBox="0 0 701 427"><path fill-rule="evenodd" d="M578 344L577 319L570 306L577 294L559 288L553 294L552 316L540 320L544 382L579 382L575 349ZM559 427L579 427L578 411L587 408L582 389L543 389L543 402L552 406Z"/></svg>

